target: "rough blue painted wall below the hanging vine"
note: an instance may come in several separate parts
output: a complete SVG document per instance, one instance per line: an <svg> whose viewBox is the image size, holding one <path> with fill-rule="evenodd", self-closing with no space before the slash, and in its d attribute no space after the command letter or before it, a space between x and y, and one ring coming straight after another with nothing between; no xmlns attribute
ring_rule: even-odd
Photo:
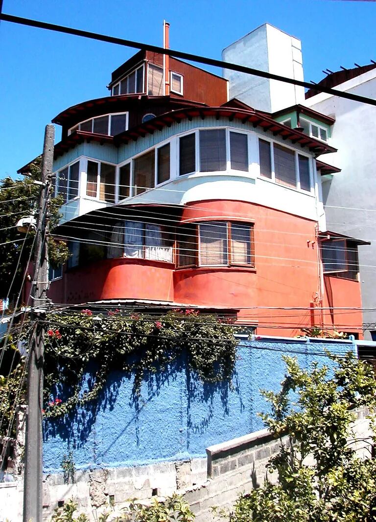
<svg viewBox="0 0 376 522"><path fill-rule="evenodd" d="M331 365L332 353L354 351L351 342L241 340L233 389L203 384L186 371L184 360L142 386L134 400L133 379L113 372L96 404L69 418L44 423L44 471L61 471L64 453L74 452L77 469L127 467L204 457L205 448L262 429L257 412L267 411L260 389L279 390L285 375L283 353ZM298 353L297 353L298 352Z"/></svg>

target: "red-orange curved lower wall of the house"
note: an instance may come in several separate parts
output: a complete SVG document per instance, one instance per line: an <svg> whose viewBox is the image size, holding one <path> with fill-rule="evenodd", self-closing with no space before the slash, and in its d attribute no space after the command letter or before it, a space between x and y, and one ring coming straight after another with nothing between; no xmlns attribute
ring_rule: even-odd
<svg viewBox="0 0 376 522"><path fill-rule="evenodd" d="M144 259L107 259L66 272L63 280L52 283L49 296L65 303L144 299L240 309L242 321L257 324L263 335L294 336L302 327L323 322L324 327L335 325L361 336L361 313L310 309L320 306L321 295L315 221L230 200L189 204L181 221L210 217L254 223L255 268L175 269ZM358 282L324 280L324 306L361 306Z"/></svg>

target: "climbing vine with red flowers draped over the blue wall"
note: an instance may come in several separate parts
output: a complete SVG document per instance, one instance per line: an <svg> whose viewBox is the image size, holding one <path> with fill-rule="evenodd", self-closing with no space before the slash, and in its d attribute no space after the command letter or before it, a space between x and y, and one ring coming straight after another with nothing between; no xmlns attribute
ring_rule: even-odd
<svg viewBox="0 0 376 522"><path fill-rule="evenodd" d="M184 358L203 382L231 383L237 345L232 323L194 310L169 311L157 318L120 310L48 315L45 417L59 417L96 399L114 370L133 376L136 399L146 376Z"/></svg>

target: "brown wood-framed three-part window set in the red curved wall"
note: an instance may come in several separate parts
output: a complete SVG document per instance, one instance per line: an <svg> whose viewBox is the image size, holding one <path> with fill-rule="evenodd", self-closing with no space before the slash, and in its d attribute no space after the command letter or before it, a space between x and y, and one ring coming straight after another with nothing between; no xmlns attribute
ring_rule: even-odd
<svg viewBox="0 0 376 522"><path fill-rule="evenodd" d="M254 266L253 225L229 221L186 224L178 232L178 266ZM196 254L198 253L198 255Z"/></svg>

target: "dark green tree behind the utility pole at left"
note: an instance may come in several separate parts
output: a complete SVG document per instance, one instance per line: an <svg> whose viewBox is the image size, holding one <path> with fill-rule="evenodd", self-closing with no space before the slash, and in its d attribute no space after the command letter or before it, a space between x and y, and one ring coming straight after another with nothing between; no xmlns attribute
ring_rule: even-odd
<svg viewBox="0 0 376 522"><path fill-rule="evenodd" d="M17 221L29 216L38 201L40 185L35 180L41 179L41 160L39 156L30 163L30 176L22 180L12 180L6 177L0 182L0 299L4 299L10 291L10 296L20 291L23 274L27 268L28 259L34 239L34 231L25 234L17 231ZM60 219L58 208L62 205L61 196L51 199L49 208L50 229L57 226ZM66 262L69 257L67 245L63 241L49 239L50 264L57 267ZM18 263L19 260L19 263ZM9 288L10 286L10 288Z"/></svg>

